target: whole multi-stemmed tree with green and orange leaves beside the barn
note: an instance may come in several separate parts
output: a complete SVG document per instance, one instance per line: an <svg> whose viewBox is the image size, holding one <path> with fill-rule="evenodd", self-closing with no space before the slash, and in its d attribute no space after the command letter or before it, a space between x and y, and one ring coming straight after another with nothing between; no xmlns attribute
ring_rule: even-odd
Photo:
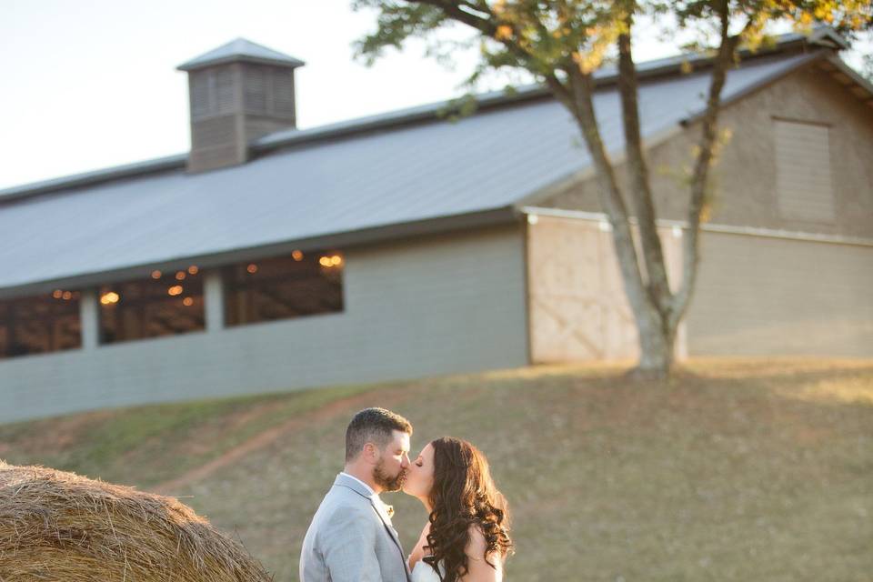
<svg viewBox="0 0 873 582"><path fill-rule="evenodd" d="M827 23L851 33L873 21L870 0L355 0L356 9L377 11L376 31L356 44L372 63L386 47L401 48L409 38L424 38L435 52L438 33L465 25L481 44L481 59L471 80L493 69L527 71L547 86L572 115L584 138L597 176L601 206L612 226L619 268L637 329L640 359L635 376L662 378L670 373L677 328L687 311L700 260L701 216L707 205L709 170L719 146L718 114L728 69L738 62L740 45L766 39L768 25ZM634 23L641 17L670 17L683 30L712 31L707 103L700 121L696 156L688 181L687 231L682 279L673 292L657 236L656 208L640 135L637 72L633 58ZM618 185L595 117L593 73L609 56L617 58L627 191ZM633 242L636 218L639 252Z"/></svg>

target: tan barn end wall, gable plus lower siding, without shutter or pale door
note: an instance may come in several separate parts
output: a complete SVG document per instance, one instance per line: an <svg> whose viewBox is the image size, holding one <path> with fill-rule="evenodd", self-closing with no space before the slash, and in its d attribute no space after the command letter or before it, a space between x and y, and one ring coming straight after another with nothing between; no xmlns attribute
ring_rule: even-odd
<svg viewBox="0 0 873 582"><path fill-rule="evenodd" d="M833 220L780 215L776 119L828 126ZM728 105L721 125L732 137L714 170L711 224L873 240L873 109L826 71L812 65L762 87ZM685 218L677 168L690 166L699 130L648 150L660 217ZM587 179L531 205L599 212L594 186ZM701 256L690 355L873 356L873 246L710 231Z"/></svg>

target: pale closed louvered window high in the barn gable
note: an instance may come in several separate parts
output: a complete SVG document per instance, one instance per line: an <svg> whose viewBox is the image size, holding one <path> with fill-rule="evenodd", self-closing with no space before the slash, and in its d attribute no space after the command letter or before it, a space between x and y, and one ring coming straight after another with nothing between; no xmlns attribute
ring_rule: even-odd
<svg viewBox="0 0 873 582"><path fill-rule="evenodd" d="M834 221L827 125L774 120L779 215L806 222Z"/></svg>

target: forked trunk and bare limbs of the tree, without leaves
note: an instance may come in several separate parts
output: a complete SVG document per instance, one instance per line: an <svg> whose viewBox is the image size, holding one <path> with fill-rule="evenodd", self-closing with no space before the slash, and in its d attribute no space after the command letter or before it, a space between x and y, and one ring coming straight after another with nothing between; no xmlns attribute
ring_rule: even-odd
<svg viewBox="0 0 873 582"><path fill-rule="evenodd" d="M463 12L447 0L419 0L435 5L451 18L477 28L493 37L495 25L491 20ZM572 58L565 59L552 72L542 73L547 85L574 116L588 152L591 154L597 176L600 203L612 226L612 240L618 267L624 284L627 302L630 304L637 324L640 356L637 367L630 376L642 378L666 378L673 363L677 328L684 316L697 276L699 257L698 234L700 213L703 208L708 170L716 141L717 115L720 94L725 83L728 63L740 35L728 36L728 0L719 3L721 15L721 46L715 59L712 83L707 99L707 111L703 121L700 154L691 186L688 208L688 233L684 243L683 280L676 294L669 286L663 249L657 233L657 213L649 184L649 175L643 152L637 105L637 73L631 54L630 29L633 25L633 10L629 11L625 24L627 30L618 36L618 93L621 97L625 130L627 167L630 170L629 196L638 225L640 250L634 244L625 193L617 184L615 169L603 144L594 111L594 81L590 72L583 72ZM751 21L750 21L751 22ZM536 62L536 58L524 47L505 41L510 52L520 62ZM531 67L529 67L531 68ZM534 68L539 67L533 67ZM556 71L566 75L561 79Z"/></svg>

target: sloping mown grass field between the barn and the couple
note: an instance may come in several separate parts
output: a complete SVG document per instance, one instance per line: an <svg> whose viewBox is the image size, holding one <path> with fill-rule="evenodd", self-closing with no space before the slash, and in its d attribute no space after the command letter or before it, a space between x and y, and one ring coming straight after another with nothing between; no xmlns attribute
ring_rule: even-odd
<svg viewBox="0 0 873 582"><path fill-rule="evenodd" d="M873 361L506 370L144 406L0 426L0 458L180 497L296 580L351 415L386 406L489 457L514 510L509 580L873 579ZM418 502L386 495L406 549Z"/></svg>

